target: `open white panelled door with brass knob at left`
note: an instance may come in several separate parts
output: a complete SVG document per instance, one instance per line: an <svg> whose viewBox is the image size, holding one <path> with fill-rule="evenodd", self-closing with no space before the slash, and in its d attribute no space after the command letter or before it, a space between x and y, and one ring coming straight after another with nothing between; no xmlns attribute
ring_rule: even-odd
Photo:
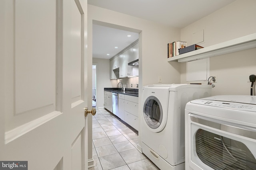
<svg viewBox="0 0 256 170"><path fill-rule="evenodd" d="M86 18L87 0L0 1L0 161L87 169Z"/></svg>

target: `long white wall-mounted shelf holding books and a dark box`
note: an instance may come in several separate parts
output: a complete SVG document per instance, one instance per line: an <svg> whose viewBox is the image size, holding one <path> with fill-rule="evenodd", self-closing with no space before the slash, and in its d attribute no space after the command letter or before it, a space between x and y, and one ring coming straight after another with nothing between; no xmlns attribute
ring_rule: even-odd
<svg viewBox="0 0 256 170"><path fill-rule="evenodd" d="M252 49L256 47L256 33L246 35L244 37L232 39L216 45L211 45L202 49L170 57L167 61L178 61L180 63L195 61L208 57L214 57L218 55L233 53L236 51L242 51L246 49Z"/></svg>

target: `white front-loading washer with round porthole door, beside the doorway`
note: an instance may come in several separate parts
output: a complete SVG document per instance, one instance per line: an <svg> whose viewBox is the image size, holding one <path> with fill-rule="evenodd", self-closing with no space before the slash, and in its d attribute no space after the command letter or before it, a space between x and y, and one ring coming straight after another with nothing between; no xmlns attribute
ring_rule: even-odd
<svg viewBox="0 0 256 170"><path fill-rule="evenodd" d="M161 170L185 169L184 110L211 96L211 85L154 84L142 88L142 152Z"/></svg>

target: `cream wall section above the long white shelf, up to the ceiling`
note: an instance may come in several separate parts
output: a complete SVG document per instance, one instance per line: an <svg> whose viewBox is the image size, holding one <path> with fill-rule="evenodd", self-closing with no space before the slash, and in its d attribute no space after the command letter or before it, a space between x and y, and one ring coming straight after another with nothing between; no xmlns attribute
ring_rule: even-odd
<svg viewBox="0 0 256 170"><path fill-rule="evenodd" d="M204 29L208 47L256 32L256 1L236 0L228 6L181 29L181 39L192 45L192 33Z"/></svg>

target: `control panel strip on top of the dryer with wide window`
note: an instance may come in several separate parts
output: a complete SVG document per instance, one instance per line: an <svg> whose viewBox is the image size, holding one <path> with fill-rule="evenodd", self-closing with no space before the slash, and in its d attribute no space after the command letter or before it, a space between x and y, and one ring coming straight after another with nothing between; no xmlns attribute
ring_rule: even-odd
<svg viewBox="0 0 256 170"><path fill-rule="evenodd" d="M227 109L238 109L243 111L256 112L256 105L254 104L242 104L242 103L235 103L235 102L223 102L223 101L213 101L213 100L193 100L191 101L191 103L222 107Z"/></svg>

